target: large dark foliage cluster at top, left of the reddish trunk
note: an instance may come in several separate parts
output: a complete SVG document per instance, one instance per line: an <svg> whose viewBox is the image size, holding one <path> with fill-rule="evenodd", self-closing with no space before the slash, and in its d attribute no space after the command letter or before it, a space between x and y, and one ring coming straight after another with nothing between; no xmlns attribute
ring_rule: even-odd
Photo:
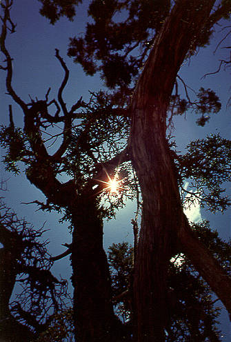
<svg viewBox="0 0 231 342"><path fill-rule="evenodd" d="M88 74L101 71L109 88L128 86L169 10L169 0L92 1L88 15L94 23L88 23L84 39L70 39L68 55Z"/></svg>

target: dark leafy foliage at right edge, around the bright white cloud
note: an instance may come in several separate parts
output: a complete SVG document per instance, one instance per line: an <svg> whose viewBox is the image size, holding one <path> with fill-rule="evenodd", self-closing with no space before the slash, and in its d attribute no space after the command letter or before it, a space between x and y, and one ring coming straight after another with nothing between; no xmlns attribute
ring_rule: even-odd
<svg viewBox="0 0 231 342"><path fill-rule="evenodd" d="M221 184L231 181L231 141L219 134L211 134L206 139L192 141L188 152L177 157L177 165L183 179L190 181L190 191L185 203L192 203L197 197L201 205L208 205L212 212L227 209L230 198L223 195Z"/></svg>

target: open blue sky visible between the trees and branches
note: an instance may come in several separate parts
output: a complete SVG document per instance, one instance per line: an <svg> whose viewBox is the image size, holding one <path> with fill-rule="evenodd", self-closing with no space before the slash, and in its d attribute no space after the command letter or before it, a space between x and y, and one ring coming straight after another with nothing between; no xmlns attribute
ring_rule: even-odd
<svg viewBox="0 0 231 342"><path fill-rule="evenodd" d="M13 21L17 23L17 32L8 36L6 44L14 58L13 86L24 101L30 101L29 94L32 98L43 99L50 87L50 99L56 97L63 77L63 70L54 57L55 48L59 49L71 71L70 81L64 92L66 103L70 103L71 106L81 96L83 99L88 99L88 90L98 91L103 87L99 75L86 77L81 67L74 64L66 56L68 38L83 32L85 22L88 19L86 15L88 1L83 2L84 4L79 6L79 10L77 10L77 18L73 22L61 19L56 25L51 26L48 20L39 14L40 5L37 0L14 0L11 14ZM201 79L207 72L217 70L219 59L226 59L227 57L227 50L225 49L219 49L216 54L213 53L217 43L224 35L224 32L219 32L219 30L220 28L217 26L217 34L214 34L214 39L209 48L201 49L197 56L185 62L180 75L185 83L188 83L196 91L201 86L215 90L221 99L222 109L219 114L211 116L210 122L204 128L195 124L197 115L194 113L188 113L186 119L183 117L175 118L175 130L172 134L176 137L180 151L183 151L184 146L189 141L211 133L220 132L223 137L231 139L231 108L226 108L231 96L230 70L226 70L226 72L221 70L219 74ZM230 39L222 44L222 46L230 45ZM0 81L1 123L8 123L8 105L13 104L14 122L16 125L22 125L23 117L20 108L12 103L10 97L5 94L5 72L2 70ZM3 155L2 151L1 155ZM8 192L4 192L2 195L6 197L6 203L17 212L19 217L25 217L35 227L40 227L46 221L46 228L50 228L45 236L45 238L50 239L50 253L56 255L63 252L64 248L61 243L70 242L70 234L66 225L58 223L59 215L36 212L36 206L21 204L21 202L34 201L35 199L43 201L44 197L41 192L26 180L25 174L17 177L6 174L2 164L1 179L8 179ZM228 184L228 192L230 193L230 184ZM134 217L134 211L135 204L128 203L128 206L117 214L116 220L105 224L106 248L113 242L118 243L125 239L132 242L130 220ZM221 237L230 238L230 210L223 215L214 215L202 210L201 215L203 219L210 220L212 228L219 230ZM54 265L54 271L68 278L70 276L68 261L68 258L58 261ZM230 328L227 319L225 321L223 331L228 334ZM227 340L224 339L223 341L229 341L228 336Z"/></svg>

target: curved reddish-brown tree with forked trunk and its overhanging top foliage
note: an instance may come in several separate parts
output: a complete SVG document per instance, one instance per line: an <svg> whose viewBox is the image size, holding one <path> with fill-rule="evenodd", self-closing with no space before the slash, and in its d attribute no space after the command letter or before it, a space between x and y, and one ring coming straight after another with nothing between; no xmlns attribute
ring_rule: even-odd
<svg viewBox="0 0 231 342"><path fill-rule="evenodd" d="M115 14L123 10L125 20L114 20ZM70 40L70 57L88 74L100 70L107 85L117 87L117 94L118 88L119 92L129 92L128 84L137 82L129 105L132 123L128 140L143 198L134 274L137 339L163 341L168 321L168 262L179 249L231 311L230 279L191 232L179 197L174 157L166 140L168 109L181 64L209 43L215 23L230 17L230 1L219 1L215 6L215 1L203 0L161 1L161 5L159 1L96 0L88 14L94 22L88 24L84 39ZM134 57L131 52L138 47L141 54ZM116 75L113 70L117 70ZM214 94L214 105L206 105L211 92L207 91L207 97L204 93L201 89L199 125L209 119L205 112L219 109ZM191 101L177 104L180 110L192 105Z"/></svg>

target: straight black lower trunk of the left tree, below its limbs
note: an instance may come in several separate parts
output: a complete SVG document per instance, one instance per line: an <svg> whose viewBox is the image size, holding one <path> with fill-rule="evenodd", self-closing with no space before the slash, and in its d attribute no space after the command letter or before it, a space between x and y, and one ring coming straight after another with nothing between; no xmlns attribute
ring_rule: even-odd
<svg viewBox="0 0 231 342"><path fill-rule="evenodd" d="M72 284L75 339L121 341L122 324L114 315L108 260L103 250L103 221L94 198L82 195L72 208Z"/></svg>

